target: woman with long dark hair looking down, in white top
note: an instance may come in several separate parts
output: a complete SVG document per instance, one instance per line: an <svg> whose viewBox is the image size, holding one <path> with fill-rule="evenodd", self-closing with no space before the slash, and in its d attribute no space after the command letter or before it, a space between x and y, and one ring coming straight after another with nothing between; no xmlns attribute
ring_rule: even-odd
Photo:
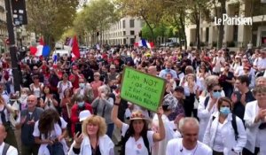
<svg viewBox="0 0 266 155"><path fill-rule="evenodd" d="M35 122L35 143L40 144L38 155L66 155L66 121L54 109L45 110Z"/></svg>

